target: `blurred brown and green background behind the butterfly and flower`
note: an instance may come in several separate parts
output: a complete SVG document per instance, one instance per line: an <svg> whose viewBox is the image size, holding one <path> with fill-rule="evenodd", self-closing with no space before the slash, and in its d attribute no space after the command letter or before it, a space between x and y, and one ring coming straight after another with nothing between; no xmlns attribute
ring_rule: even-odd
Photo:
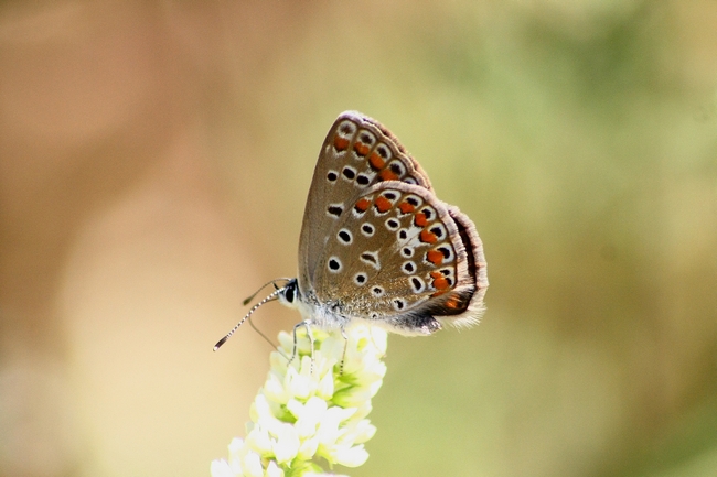
<svg viewBox="0 0 717 477"><path fill-rule="evenodd" d="M0 3L0 476L208 476L334 118L475 221L481 326L389 339L355 477L717 473L717 3ZM295 312L256 315L269 336Z"/></svg>

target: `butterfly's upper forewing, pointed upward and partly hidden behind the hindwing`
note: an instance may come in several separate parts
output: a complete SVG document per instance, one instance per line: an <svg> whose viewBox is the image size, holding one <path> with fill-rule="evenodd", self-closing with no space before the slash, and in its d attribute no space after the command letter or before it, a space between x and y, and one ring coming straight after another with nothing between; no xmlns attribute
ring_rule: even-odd
<svg viewBox="0 0 717 477"><path fill-rule="evenodd" d="M299 238L299 290L314 289L315 270L329 231L363 191L383 181L431 189L428 175L398 140L377 121L343 112L323 141L309 188Z"/></svg>

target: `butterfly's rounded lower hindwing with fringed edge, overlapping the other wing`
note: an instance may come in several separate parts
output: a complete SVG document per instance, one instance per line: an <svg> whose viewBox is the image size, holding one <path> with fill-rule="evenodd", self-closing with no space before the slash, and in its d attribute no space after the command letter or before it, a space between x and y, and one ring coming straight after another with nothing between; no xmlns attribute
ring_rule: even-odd
<svg viewBox="0 0 717 477"><path fill-rule="evenodd" d="M318 237L315 297L330 314L395 333L474 323L488 288L473 223L421 186L388 181L361 194Z"/></svg>

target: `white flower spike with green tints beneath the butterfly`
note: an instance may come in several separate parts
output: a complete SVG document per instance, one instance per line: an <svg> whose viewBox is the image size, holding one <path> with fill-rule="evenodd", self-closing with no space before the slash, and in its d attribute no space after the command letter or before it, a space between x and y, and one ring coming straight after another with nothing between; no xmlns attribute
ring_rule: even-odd
<svg viewBox="0 0 717 477"><path fill-rule="evenodd" d="M364 443L376 433L366 419L386 365L386 332L365 325L341 333L312 330L313 362L306 330L279 334L271 370L252 404L246 438L229 444L228 460L214 460L212 477L330 477L322 464L358 467ZM343 360L343 370L342 367ZM344 477L335 475L336 477Z"/></svg>

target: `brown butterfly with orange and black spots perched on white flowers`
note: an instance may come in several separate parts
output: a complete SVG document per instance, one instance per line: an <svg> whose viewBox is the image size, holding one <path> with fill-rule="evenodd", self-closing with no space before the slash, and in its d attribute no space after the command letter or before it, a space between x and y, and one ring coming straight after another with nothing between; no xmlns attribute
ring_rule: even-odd
<svg viewBox="0 0 717 477"><path fill-rule="evenodd" d="M215 350L274 300L301 313L295 342L299 326L343 333L356 322L431 335L443 324L475 324L484 310L486 263L474 224L436 196L388 129L357 111L341 113L323 141L298 258L298 277L249 310Z"/></svg>

